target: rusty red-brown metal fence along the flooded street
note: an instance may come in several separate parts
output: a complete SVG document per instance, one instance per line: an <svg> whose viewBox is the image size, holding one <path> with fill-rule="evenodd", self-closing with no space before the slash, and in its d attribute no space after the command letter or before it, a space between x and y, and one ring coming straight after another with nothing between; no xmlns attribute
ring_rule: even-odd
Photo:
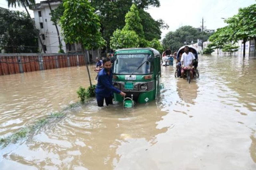
<svg viewBox="0 0 256 170"><path fill-rule="evenodd" d="M82 54L0 54L0 76L84 64Z"/></svg>

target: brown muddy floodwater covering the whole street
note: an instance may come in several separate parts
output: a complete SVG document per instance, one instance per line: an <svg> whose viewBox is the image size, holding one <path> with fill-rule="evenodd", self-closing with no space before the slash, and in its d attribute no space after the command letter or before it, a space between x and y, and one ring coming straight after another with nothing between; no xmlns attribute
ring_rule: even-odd
<svg viewBox="0 0 256 170"><path fill-rule="evenodd" d="M199 57L191 84L162 67L156 102L69 109L1 149L0 169L256 169L256 57ZM85 67L0 76L0 138L78 101L86 77Z"/></svg>

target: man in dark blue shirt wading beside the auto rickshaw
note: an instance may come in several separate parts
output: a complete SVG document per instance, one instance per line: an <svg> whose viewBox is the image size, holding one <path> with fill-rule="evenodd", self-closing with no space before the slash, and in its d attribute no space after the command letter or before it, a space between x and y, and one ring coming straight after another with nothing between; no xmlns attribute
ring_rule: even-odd
<svg viewBox="0 0 256 170"><path fill-rule="evenodd" d="M112 85L113 73L111 70L111 61L109 58L103 60L103 69L98 74L98 84L96 86L96 99L99 107L103 107L104 99L106 105L113 104L113 92L125 96L124 92Z"/></svg>

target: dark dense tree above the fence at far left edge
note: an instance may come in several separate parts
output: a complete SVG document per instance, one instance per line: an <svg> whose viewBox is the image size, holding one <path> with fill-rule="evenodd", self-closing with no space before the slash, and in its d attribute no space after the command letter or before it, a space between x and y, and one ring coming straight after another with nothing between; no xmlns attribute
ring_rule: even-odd
<svg viewBox="0 0 256 170"><path fill-rule="evenodd" d="M26 13L0 10L0 48L5 53L37 53L38 33Z"/></svg>

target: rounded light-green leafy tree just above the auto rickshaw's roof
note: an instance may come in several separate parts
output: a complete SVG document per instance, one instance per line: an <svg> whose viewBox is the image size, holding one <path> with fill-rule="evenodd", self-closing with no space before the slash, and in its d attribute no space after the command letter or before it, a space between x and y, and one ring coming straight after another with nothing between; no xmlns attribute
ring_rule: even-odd
<svg viewBox="0 0 256 170"><path fill-rule="evenodd" d="M134 31L116 29L110 38L110 48L116 50L132 47L139 47L139 36Z"/></svg>

